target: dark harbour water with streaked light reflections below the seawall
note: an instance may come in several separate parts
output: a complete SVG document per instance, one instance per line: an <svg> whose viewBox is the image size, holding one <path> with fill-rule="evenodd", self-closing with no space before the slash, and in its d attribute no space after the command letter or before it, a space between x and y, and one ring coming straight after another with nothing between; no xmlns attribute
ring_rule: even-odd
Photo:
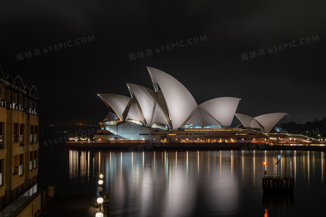
<svg viewBox="0 0 326 217"><path fill-rule="evenodd" d="M43 149L43 156L50 150L55 158L58 149ZM324 152L156 150L130 154L66 149L64 155L51 170L39 166L38 176L52 177L45 182L56 184L56 195L94 195L98 194L98 175L103 173L111 216L301 216L303 207L323 215L319 198L324 197ZM263 196L263 161L268 163L269 174L278 170L279 175L294 175L293 198ZM63 169L67 165L69 169ZM57 172L60 179L47 172Z"/></svg>

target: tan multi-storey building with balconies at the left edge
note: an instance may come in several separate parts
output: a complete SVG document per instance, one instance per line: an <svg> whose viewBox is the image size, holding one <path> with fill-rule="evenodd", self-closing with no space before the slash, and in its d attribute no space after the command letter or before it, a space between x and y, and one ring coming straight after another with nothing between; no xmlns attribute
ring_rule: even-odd
<svg viewBox="0 0 326 217"><path fill-rule="evenodd" d="M3 76L0 78L0 216L6 216L8 206L11 212L20 212L19 208L26 206L26 201L37 193L37 159L36 87L24 86L20 76Z"/></svg>

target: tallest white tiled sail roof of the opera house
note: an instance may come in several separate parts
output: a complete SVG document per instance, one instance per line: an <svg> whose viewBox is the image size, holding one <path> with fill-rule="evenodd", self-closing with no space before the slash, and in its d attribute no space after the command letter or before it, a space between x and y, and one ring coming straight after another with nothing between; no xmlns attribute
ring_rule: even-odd
<svg viewBox="0 0 326 217"><path fill-rule="evenodd" d="M160 70L147 67L154 87L158 84L168 106L173 129L182 126L197 109L197 103L190 92L174 77ZM157 88L156 88L157 91Z"/></svg>

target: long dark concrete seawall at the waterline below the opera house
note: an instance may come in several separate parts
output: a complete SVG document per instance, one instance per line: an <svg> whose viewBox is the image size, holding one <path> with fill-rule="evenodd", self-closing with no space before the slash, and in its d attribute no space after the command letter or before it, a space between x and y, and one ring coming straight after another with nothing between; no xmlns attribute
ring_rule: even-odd
<svg viewBox="0 0 326 217"><path fill-rule="evenodd" d="M159 144L159 145L158 145ZM153 149L229 149L229 150L326 150L319 145L271 145L264 143L78 143L66 142L66 148L78 149L126 149L143 145ZM255 145L255 146L253 146ZM152 150L148 148L148 150Z"/></svg>

